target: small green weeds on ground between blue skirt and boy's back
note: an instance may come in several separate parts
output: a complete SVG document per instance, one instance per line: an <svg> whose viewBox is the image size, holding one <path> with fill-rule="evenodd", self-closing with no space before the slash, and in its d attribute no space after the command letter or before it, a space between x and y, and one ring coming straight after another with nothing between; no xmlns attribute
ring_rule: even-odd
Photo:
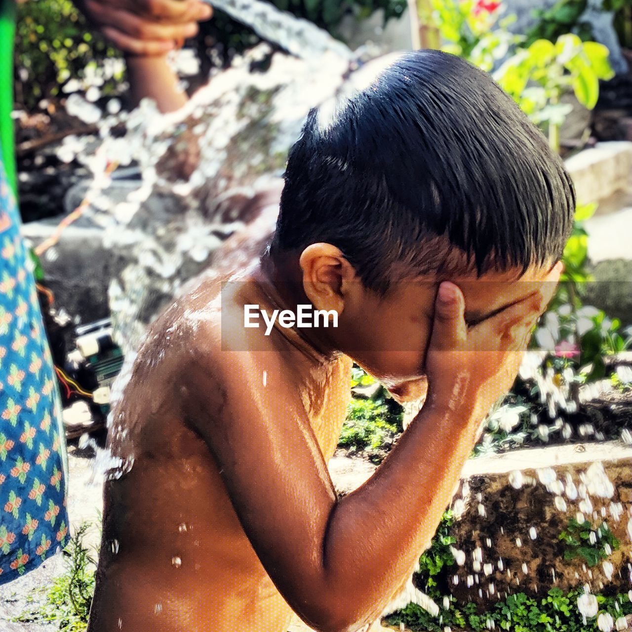
<svg viewBox="0 0 632 632"><path fill-rule="evenodd" d="M37 609L23 612L16 621L54 623L64 632L84 632L87 629L97 564L83 544L90 526L90 523L82 523L64 549L64 555L68 556L66 572L52 580L44 603ZM28 600L36 602L32 595Z"/></svg>

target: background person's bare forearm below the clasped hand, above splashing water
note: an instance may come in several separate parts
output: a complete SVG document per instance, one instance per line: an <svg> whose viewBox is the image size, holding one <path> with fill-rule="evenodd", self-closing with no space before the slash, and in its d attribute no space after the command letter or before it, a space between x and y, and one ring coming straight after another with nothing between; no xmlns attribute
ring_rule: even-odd
<svg viewBox="0 0 632 632"><path fill-rule="evenodd" d="M174 112L188 101L186 92L178 87L178 76L169 68L166 57L127 56L133 106L141 99L154 99L161 112Z"/></svg>

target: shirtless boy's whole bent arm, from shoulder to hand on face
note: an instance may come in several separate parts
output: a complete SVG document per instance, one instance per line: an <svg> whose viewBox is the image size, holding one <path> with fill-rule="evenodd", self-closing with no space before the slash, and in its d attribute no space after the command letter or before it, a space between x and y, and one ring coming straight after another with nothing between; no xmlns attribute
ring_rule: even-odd
<svg viewBox="0 0 632 632"><path fill-rule="evenodd" d="M411 572L449 504L482 416L511 387L544 301L533 295L470 335L458 289L456 297L437 303L428 403L374 475L342 499L276 353L221 351L219 367L198 358L195 391L212 413L193 413L190 422L214 455L265 570L321 632L374 621ZM490 341L499 341L498 349L482 352L485 365L471 349L490 349ZM509 353L511 345L519 351ZM191 410L200 403L193 399Z"/></svg>

